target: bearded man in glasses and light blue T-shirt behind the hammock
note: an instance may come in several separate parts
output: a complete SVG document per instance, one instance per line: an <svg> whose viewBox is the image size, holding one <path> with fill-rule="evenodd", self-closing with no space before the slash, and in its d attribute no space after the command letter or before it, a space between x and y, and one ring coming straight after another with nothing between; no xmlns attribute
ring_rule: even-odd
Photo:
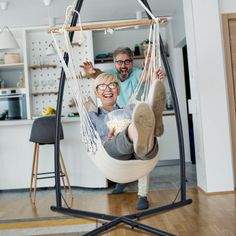
<svg viewBox="0 0 236 236"><path fill-rule="evenodd" d="M112 73L116 76L119 84L119 97L117 98L117 104L119 107L124 107L128 104L130 97L132 96L135 88L139 83L139 79L142 73L141 68L133 66L133 52L130 48L118 48L113 53L114 68L109 70L109 73ZM102 73L101 70L93 67L93 64L89 61L86 61L81 66L86 76L89 78L96 78L99 74ZM157 76L160 80L164 78L161 70L157 71ZM163 127L163 126L162 126ZM163 133L163 128L160 130L159 136ZM122 193L127 184L117 184L113 190L113 194ZM136 203L136 208L138 210L147 209L149 207L147 193L149 189L149 176L145 176L139 179L138 182L138 200Z"/></svg>

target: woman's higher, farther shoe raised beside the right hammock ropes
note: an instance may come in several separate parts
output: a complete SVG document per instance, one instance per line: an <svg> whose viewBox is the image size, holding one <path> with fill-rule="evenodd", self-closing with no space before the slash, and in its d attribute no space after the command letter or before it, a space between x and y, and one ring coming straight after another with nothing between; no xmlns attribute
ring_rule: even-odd
<svg viewBox="0 0 236 236"><path fill-rule="evenodd" d="M155 115L154 136L160 137L164 133L162 113L166 105L166 89L162 81L154 80L148 95L148 104Z"/></svg>

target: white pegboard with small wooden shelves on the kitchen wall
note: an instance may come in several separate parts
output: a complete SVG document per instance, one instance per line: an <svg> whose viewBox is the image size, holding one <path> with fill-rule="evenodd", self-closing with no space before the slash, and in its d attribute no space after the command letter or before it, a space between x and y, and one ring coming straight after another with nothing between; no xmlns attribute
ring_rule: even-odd
<svg viewBox="0 0 236 236"><path fill-rule="evenodd" d="M76 72L81 73L82 68L80 65L86 60L93 61L93 44L92 34L90 31L83 32L84 42L78 46L78 38L81 38L80 32L75 32L73 46ZM62 35L56 36L59 47L64 49L64 41ZM58 87L61 74L61 65L58 55L47 56L46 52L49 45L53 43L52 36L47 33L46 29L43 30L29 30L27 32L27 54L29 65L29 86L31 94L31 111L32 117L42 115L43 108L51 106L56 108ZM93 81L82 80L81 87L85 96L91 96L96 101L93 92ZM68 116L71 112L76 112L75 107L70 107L72 95L68 84L65 84L62 115Z"/></svg>

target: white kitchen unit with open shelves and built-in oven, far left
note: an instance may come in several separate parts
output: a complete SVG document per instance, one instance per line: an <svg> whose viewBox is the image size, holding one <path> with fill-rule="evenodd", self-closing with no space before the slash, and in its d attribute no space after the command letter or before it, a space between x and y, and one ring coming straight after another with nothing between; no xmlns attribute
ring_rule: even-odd
<svg viewBox="0 0 236 236"><path fill-rule="evenodd" d="M28 87L25 75L23 31L13 31L20 49L0 51L0 119L27 119ZM5 64L7 63L7 64Z"/></svg>

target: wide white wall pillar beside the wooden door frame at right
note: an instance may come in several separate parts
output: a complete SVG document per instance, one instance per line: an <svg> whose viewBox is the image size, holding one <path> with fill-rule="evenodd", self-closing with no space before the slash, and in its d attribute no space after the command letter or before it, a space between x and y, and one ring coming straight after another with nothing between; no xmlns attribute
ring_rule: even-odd
<svg viewBox="0 0 236 236"><path fill-rule="evenodd" d="M198 186L234 189L223 42L218 1L183 0L189 53Z"/></svg>

